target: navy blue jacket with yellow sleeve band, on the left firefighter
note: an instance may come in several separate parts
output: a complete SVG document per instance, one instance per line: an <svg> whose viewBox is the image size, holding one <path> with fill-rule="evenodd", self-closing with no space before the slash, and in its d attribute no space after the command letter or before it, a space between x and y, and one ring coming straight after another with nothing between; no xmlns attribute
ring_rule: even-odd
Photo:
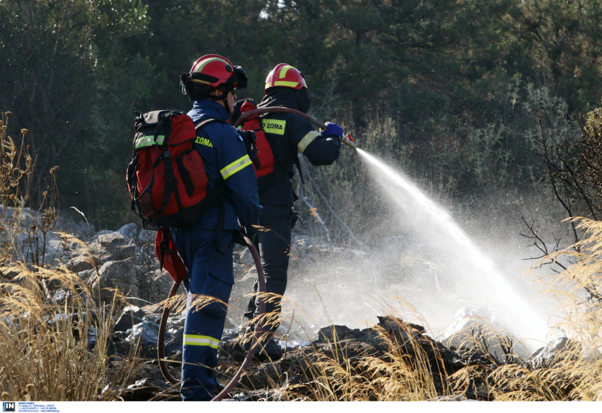
<svg viewBox="0 0 602 413"><path fill-rule="evenodd" d="M203 119L229 120L225 108L217 102L202 99L194 102L188 112L195 125ZM247 155L243 140L231 125L211 122L197 129L193 146L205 163L207 185L215 186L220 179L225 184L225 222L223 229L238 230L238 219L244 226L258 225L261 215L255 169ZM211 229L217 226L219 208L207 211L191 229Z"/></svg>

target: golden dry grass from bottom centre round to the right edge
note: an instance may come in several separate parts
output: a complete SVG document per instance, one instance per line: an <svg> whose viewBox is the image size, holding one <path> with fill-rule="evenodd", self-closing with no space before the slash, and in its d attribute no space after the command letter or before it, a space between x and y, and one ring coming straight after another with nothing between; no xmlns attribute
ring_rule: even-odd
<svg viewBox="0 0 602 413"><path fill-rule="evenodd" d="M396 328L376 326L379 346L386 351L350 352L349 340L332 336L326 344L303 354L296 365L301 383L291 383L287 373L267 380L272 398L278 400L434 400L457 399L515 401L602 401L602 222L579 219L579 228L589 237L551 256L575 264L545 282L545 292L561 303L556 314L563 320L553 331L562 331L566 345L545 359L524 360L514 340L493 324L477 321L462 336L456 349L478 361L455 371L446 371L444 355L434 352L415 334L410 324ZM549 258L549 257L548 257ZM592 294L594 293L594 294ZM296 308L299 311L302 309ZM294 314L283 315L292 318ZM287 321L283 321L284 324ZM426 325L426 324L425 324ZM486 328L483 328L483 326ZM404 331L400 340L399 331ZM494 352L494 347L497 349ZM353 353L353 354L352 354Z"/></svg>

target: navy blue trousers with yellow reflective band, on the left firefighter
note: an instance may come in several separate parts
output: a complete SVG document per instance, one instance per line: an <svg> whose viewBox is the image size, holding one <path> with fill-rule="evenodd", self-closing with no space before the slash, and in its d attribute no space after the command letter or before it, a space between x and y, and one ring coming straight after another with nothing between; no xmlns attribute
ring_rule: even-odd
<svg viewBox="0 0 602 413"><path fill-rule="evenodd" d="M211 400L217 377L217 349L234 284L234 233L223 231L217 249L215 231L176 229L174 238L186 269L188 292L182 348L182 400Z"/></svg>

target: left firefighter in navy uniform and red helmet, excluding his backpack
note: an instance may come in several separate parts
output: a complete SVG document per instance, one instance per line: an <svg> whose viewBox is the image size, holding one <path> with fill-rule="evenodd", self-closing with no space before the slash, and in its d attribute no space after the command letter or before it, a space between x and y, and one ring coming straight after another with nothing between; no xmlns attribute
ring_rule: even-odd
<svg viewBox="0 0 602 413"><path fill-rule="evenodd" d="M259 223L257 181L240 135L226 123L236 98L235 88L247 84L244 70L220 55L204 55L180 77L182 92L194 102L188 112L197 128L193 144L205 164L209 186L222 188L219 208L202 214L193 225L176 228L173 238L186 265L187 310L182 350L182 400L211 400L216 379L217 349L226 320L226 305L234 284L232 251L246 227ZM191 305L202 296L208 305Z"/></svg>

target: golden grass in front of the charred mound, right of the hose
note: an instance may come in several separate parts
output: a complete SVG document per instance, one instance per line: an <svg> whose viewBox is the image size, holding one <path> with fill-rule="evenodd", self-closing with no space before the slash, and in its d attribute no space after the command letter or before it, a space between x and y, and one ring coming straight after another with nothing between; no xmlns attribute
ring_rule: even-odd
<svg viewBox="0 0 602 413"><path fill-rule="evenodd" d="M269 384L279 400L420 401L447 393L442 389L443 369L432 371L433 365L443 364L441 358L429 356L412 326L399 323L397 328L400 334L374 328L374 340L386 349L376 355L370 344L349 347L350 341L338 337L332 326L326 343L306 350L295 367L303 371L303 383L289 383L283 373Z"/></svg>

